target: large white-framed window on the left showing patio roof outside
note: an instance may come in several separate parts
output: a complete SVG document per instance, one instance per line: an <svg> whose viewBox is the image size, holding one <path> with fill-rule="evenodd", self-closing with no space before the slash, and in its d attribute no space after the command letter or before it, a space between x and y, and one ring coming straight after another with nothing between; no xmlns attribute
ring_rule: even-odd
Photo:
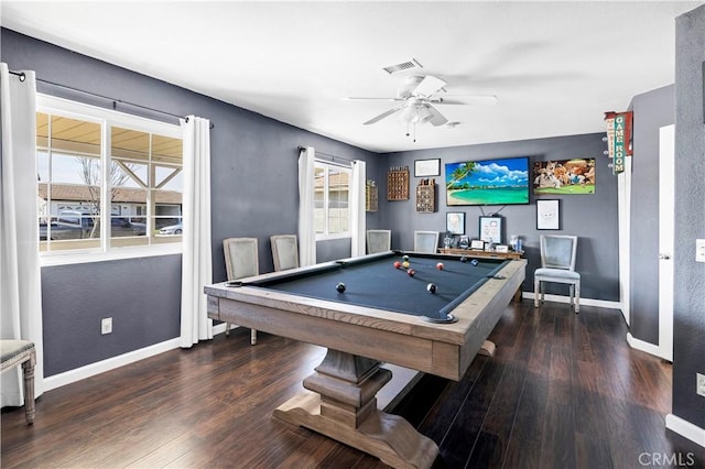
<svg viewBox="0 0 705 469"><path fill-rule="evenodd" d="M40 96L40 250L180 250L182 149L178 126Z"/></svg>

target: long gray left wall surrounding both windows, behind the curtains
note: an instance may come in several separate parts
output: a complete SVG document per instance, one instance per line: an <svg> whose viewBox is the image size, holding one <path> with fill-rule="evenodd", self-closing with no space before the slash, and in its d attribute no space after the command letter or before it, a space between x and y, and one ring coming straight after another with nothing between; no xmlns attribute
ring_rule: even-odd
<svg viewBox="0 0 705 469"><path fill-rule="evenodd" d="M10 69L33 69L39 79L159 109L212 120L212 204L214 281L225 280L221 240L257 237L260 270L273 270L270 234L297 226L297 148L367 161L379 156L260 114L113 65L1 31L2 61ZM96 106L112 102L37 84L41 92ZM160 113L118 105L118 110L176 122ZM369 214L371 228L383 211ZM349 241L319 243L321 260L349 253ZM72 370L175 338L180 331L181 255L42 269L45 375ZM113 317L113 332L100 335L100 319Z"/></svg>

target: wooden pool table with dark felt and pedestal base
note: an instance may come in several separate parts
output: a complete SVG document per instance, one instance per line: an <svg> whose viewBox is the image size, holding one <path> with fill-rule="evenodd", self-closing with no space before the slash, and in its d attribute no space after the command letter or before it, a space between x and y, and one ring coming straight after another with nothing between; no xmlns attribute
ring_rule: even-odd
<svg viewBox="0 0 705 469"><path fill-rule="evenodd" d="M409 268L397 268L404 255ZM390 251L218 283L205 293L214 319L328 349L303 382L310 392L282 404L275 417L392 467L431 467L435 443L377 408L376 394L391 379L381 363L459 380L524 271L525 260Z"/></svg>

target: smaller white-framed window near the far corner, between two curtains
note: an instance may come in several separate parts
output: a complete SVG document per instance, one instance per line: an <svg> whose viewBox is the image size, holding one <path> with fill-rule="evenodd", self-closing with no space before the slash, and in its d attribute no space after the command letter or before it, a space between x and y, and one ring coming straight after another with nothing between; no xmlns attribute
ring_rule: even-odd
<svg viewBox="0 0 705 469"><path fill-rule="evenodd" d="M318 161L315 163L316 239L350 236L350 174L347 167Z"/></svg>

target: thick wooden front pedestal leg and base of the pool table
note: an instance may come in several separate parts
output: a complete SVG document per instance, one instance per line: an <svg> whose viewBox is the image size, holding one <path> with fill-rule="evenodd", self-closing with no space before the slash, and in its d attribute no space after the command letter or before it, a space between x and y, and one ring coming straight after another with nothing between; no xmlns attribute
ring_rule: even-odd
<svg viewBox="0 0 705 469"><path fill-rule="evenodd" d="M405 419L377 408L391 371L364 357L328 349L299 394L274 416L378 457L394 468L430 468L438 447Z"/></svg>

